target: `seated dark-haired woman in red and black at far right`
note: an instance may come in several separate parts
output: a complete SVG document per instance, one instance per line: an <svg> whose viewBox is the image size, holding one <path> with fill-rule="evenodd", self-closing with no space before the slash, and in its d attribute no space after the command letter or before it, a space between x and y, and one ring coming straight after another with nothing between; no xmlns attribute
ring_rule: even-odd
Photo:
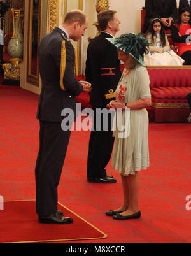
<svg viewBox="0 0 191 256"><path fill-rule="evenodd" d="M191 65L191 11L183 8L179 13L178 21L171 29L172 39L178 46L178 55L185 60L185 65Z"/></svg>

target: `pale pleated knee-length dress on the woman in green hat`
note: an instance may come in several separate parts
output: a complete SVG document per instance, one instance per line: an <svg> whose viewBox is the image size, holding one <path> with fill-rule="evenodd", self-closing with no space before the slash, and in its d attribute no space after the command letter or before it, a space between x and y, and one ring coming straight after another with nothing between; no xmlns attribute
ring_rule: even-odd
<svg viewBox="0 0 191 256"><path fill-rule="evenodd" d="M125 103L137 101L150 94L150 79L145 67L138 64L131 73L124 78L124 72L116 89L116 99L120 93L120 85L125 86ZM118 99L117 99L118 100ZM117 111L115 113L117 120ZM124 119L124 111L123 111ZM123 120L124 122L124 120ZM148 150L148 113L146 108L142 110L130 111L130 134L127 138L119 138L117 124L113 131L115 143L113 148L112 167L124 176L135 174L135 171L147 169L149 167Z"/></svg>

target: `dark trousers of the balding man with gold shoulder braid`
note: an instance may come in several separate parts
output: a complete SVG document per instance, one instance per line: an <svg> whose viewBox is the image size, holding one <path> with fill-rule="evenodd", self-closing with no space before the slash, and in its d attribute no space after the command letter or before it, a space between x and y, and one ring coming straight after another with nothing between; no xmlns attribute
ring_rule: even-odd
<svg viewBox="0 0 191 256"><path fill-rule="evenodd" d="M41 122L39 152L36 160L36 213L50 215L57 211L59 185L71 131L62 131L61 123Z"/></svg>

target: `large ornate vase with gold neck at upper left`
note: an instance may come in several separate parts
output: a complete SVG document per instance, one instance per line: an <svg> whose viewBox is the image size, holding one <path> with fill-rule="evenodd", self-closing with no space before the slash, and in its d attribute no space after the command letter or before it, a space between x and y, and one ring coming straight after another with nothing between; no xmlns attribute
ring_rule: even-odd
<svg viewBox="0 0 191 256"><path fill-rule="evenodd" d="M22 9L11 9L13 17L13 36L8 43L8 54L12 63L19 64L23 59L24 39L22 35L22 26L24 21L24 11Z"/></svg>

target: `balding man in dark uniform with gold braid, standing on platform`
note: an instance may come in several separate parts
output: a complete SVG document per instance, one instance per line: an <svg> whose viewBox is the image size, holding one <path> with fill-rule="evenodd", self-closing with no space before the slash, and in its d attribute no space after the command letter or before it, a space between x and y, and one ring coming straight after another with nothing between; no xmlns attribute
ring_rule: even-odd
<svg viewBox="0 0 191 256"><path fill-rule="evenodd" d="M41 223L67 224L71 218L57 211L57 187L66 156L73 117L68 127L61 123L66 108L76 113L76 99L90 83L74 76L75 50L69 40L78 41L85 34L88 19L80 10L67 13L64 24L55 27L39 45L39 71L42 89L37 118L40 123L39 152L36 160L36 212ZM63 129L64 128L64 129ZM64 130L64 131L63 131Z"/></svg>

